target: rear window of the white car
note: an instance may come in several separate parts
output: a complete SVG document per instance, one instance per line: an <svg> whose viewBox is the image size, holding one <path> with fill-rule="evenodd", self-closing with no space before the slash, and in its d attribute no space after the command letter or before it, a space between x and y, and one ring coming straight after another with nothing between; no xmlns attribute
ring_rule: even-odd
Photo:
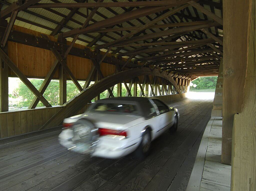
<svg viewBox="0 0 256 191"><path fill-rule="evenodd" d="M135 104L96 103L90 112L116 112L136 115L139 113Z"/></svg>

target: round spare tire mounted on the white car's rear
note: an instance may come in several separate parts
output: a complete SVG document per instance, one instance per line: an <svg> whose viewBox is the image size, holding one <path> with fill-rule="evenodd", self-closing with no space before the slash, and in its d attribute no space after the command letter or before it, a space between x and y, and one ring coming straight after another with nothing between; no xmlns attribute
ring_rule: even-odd
<svg viewBox="0 0 256 191"><path fill-rule="evenodd" d="M90 120L79 119L74 124L73 131L72 141L76 147L72 150L82 154L91 154L98 142L98 128Z"/></svg>

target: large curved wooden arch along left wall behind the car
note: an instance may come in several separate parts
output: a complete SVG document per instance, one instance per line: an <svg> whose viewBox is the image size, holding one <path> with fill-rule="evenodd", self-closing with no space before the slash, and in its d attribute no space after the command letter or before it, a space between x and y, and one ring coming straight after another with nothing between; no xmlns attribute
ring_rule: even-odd
<svg viewBox="0 0 256 191"><path fill-rule="evenodd" d="M89 86L86 90L80 92L74 98L70 99L66 104L63 105L63 108L60 111L58 111L49 121L47 121L39 130L58 126L62 123L63 119L70 117L72 114L77 112L85 104L87 104L101 92L105 91L107 88L114 86L117 83L141 75L155 75L158 77L165 78L174 85L175 89L182 98L182 94L177 83L174 81L170 74L167 74L162 70L154 69L152 71L151 68L134 68L124 70L116 74L110 75L106 78L103 78L98 83Z"/></svg>

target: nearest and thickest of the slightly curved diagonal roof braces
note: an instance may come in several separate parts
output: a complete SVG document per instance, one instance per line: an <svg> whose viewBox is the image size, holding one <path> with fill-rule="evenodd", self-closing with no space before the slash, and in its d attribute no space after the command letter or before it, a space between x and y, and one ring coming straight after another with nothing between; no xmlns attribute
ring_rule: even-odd
<svg viewBox="0 0 256 191"><path fill-rule="evenodd" d="M109 19L104 19L102 21L90 24L85 29L73 29L68 32L63 33L63 37L69 37L76 34L84 34L88 32L94 32L95 30L99 30L106 27L114 26L115 24L123 23L126 21L130 21L132 19L140 18L146 15L150 15L155 12L163 11L165 9L171 8L172 6L161 6L161 7L142 7L139 9L135 9L129 12L125 12L121 15L116 15L114 17L111 17Z"/></svg>

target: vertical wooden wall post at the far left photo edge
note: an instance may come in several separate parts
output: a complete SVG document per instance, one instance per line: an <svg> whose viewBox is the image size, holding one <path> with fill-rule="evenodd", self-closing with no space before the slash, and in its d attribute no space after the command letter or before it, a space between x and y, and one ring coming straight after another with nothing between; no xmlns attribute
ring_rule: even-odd
<svg viewBox="0 0 256 191"><path fill-rule="evenodd" d="M7 45L4 47L4 52L7 54ZM0 112L8 111L9 96L8 96L8 65L0 57Z"/></svg>

